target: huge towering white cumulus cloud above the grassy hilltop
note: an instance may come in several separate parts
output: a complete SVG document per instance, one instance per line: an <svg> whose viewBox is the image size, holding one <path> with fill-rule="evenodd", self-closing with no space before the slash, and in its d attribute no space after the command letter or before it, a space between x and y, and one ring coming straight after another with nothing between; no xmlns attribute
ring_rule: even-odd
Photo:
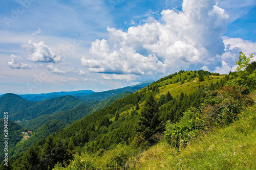
<svg viewBox="0 0 256 170"><path fill-rule="evenodd" d="M167 74L209 65L224 53L221 36L228 15L217 1L184 0L182 11L168 9L161 15L161 22L151 17L127 31L108 28L109 39L95 40L81 65L105 74Z"/></svg>

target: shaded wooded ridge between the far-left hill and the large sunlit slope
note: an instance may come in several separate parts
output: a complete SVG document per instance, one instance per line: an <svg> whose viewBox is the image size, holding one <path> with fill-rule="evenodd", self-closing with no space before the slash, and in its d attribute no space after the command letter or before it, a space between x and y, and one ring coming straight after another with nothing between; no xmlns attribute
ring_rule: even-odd
<svg viewBox="0 0 256 170"><path fill-rule="evenodd" d="M16 144L12 145L13 152L9 154L9 157L11 158L12 156L22 154L24 151L28 150L31 145L34 145L40 139L46 138L48 135L59 131L61 128L66 128L75 120L79 120L82 117L92 113L93 111L108 106L115 100L129 94L131 94L131 92L124 92L115 96L111 96L110 98L100 102L84 102L84 104L88 106L79 105L76 108L68 111L44 114L21 124L27 129L32 129L33 135L30 136L28 140L20 140Z"/></svg>

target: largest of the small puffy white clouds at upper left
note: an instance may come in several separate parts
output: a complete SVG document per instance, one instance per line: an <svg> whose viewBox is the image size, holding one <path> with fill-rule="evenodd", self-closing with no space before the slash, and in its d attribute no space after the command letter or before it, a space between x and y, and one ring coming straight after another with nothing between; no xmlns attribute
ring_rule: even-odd
<svg viewBox="0 0 256 170"><path fill-rule="evenodd" d="M27 59L33 62L60 62L61 56L56 55L44 41L38 43L28 40L28 44L22 45L27 48Z"/></svg>

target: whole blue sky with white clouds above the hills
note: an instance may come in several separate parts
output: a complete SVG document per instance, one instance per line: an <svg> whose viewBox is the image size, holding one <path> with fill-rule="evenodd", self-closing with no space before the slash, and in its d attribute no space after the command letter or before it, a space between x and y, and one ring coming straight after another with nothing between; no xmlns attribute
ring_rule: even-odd
<svg viewBox="0 0 256 170"><path fill-rule="evenodd" d="M103 91L256 52L254 0L0 1L0 93ZM253 58L256 61L256 58Z"/></svg>

